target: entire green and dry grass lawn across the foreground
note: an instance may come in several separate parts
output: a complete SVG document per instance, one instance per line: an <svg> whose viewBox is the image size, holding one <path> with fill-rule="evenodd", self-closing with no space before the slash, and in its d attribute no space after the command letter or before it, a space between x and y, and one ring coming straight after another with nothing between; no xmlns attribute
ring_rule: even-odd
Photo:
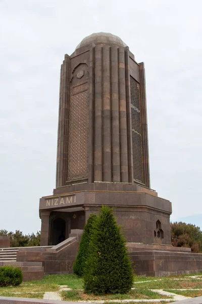
<svg viewBox="0 0 202 304"><path fill-rule="evenodd" d="M200 275L202 275L202 273ZM17 287L0 287L0 296L43 298L43 294L46 291L60 291L60 285L66 285L67 287L73 289L70 291L62 291L62 298L64 300L104 300L106 301L105 304L108 304L107 302L113 299L140 299L139 303L141 303L141 299L154 299L153 304L156 304L155 299L171 298L170 296L160 295L159 293L153 292L150 289L163 289L176 294L181 294L190 297L202 295L202 291L199 290L175 290L180 288L202 289L202 276L200 280L193 278L185 278L185 276L187 275L166 278L135 276L133 285L135 289L131 290L129 293L95 296L92 294L84 294L82 290L79 290L83 288L83 284L82 279L78 278L76 275L51 275L45 276L44 279L41 281L23 282L20 286Z"/></svg>

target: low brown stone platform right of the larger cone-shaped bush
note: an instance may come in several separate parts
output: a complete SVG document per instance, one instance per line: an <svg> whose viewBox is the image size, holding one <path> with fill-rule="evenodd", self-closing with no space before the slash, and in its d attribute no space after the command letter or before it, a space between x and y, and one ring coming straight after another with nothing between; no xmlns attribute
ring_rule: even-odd
<svg viewBox="0 0 202 304"><path fill-rule="evenodd" d="M202 253L190 248L128 243L128 250L138 275L164 277L202 271Z"/></svg>

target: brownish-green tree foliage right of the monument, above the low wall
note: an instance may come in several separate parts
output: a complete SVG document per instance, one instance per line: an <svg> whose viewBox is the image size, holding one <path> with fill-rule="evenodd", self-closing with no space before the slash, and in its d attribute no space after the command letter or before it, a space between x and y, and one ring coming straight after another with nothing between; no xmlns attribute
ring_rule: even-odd
<svg viewBox="0 0 202 304"><path fill-rule="evenodd" d="M175 247L188 247L192 252L202 252L200 227L184 222L171 223L171 241Z"/></svg>

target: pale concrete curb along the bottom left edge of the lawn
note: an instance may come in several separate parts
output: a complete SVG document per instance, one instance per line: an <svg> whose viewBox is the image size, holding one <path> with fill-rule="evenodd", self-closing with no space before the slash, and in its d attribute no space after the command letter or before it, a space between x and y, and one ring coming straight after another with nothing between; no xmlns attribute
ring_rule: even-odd
<svg viewBox="0 0 202 304"><path fill-rule="evenodd" d="M41 300L41 299L31 299L31 298L18 298L9 296L0 296L0 304L81 304L81 302L70 302L70 301L56 301L56 300ZM89 304L87 302L82 302L82 304Z"/></svg>

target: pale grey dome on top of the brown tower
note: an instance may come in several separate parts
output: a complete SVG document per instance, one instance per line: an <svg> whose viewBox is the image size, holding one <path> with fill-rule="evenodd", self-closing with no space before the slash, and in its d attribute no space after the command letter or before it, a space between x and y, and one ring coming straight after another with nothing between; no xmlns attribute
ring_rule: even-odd
<svg viewBox="0 0 202 304"><path fill-rule="evenodd" d="M126 47L127 45L116 35L111 33L93 33L89 36L86 36L80 44L76 47L76 49L83 47L85 45L94 43L95 45L114 45L114 46L122 46Z"/></svg>

